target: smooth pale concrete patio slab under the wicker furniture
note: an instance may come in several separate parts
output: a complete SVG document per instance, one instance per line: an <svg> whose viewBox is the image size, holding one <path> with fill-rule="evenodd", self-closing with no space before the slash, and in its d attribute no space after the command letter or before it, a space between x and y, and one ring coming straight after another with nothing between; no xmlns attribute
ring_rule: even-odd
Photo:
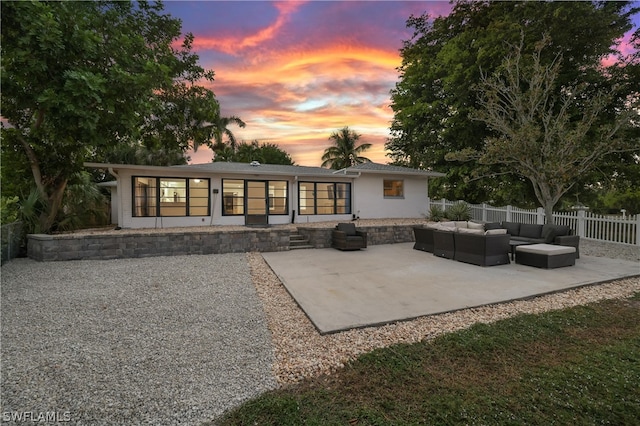
<svg viewBox="0 0 640 426"><path fill-rule="evenodd" d="M413 243L262 255L323 334L640 275L637 262L591 256L551 270L513 262L482 268L413 250Z"/></svg>

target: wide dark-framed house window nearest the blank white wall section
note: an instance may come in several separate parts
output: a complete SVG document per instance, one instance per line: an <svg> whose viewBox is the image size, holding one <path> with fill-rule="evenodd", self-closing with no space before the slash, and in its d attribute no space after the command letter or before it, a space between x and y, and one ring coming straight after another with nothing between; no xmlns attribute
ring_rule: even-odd
<svg viewBox="0 0 640 426"><path fill-rule="evenodd" d="M351 184L300 182L300 214L350 214Z"/></svg>

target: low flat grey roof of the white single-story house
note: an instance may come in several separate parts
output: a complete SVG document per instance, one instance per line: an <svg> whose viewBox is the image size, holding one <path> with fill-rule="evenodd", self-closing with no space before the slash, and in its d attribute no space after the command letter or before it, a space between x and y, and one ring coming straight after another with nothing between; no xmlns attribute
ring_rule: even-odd
<svg viewBox="0 0 640 426"><path fill-rule="evenodd" d="M155 171L202 171L206 173L228 173L242 175L283 175L283 176L316 176L316 177L358 177L362 173L375 174L396 174L422 177L439 177L444 173L429 170L411 169L408 167L391 166L379 163L362 163L342 170L326 169L324 167L309 166L285 166L279 164L252 163L232 163L215 162L204 164L188 164L179 166L142 166L134 164L107 164L107 163L85 163L85 167L98 169L130 169L130 170L155 170Z"/></svg>

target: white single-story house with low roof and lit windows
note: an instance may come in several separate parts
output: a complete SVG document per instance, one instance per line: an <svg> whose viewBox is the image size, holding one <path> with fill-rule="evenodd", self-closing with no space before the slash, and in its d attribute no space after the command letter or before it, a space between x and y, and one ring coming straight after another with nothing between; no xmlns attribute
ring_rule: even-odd
<svg viewBox="0 0 640 426"><path fill-rule="evenodd" d="M429 178L444 176L377 163L342 170L255 161L85 166L116 178L104 186L111 189L112 222L122 228L420 218Z"/></svg>

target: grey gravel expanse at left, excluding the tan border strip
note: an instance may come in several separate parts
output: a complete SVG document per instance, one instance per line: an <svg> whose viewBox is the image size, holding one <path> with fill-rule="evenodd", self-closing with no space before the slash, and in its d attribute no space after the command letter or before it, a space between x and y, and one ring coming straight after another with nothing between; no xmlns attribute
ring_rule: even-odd
<svg viewBox="0 0 640 426"><path fill-rule="evenodd" d="M15 259L1 273L3 420L200 424L276 386L244 254Z"/></svg>

